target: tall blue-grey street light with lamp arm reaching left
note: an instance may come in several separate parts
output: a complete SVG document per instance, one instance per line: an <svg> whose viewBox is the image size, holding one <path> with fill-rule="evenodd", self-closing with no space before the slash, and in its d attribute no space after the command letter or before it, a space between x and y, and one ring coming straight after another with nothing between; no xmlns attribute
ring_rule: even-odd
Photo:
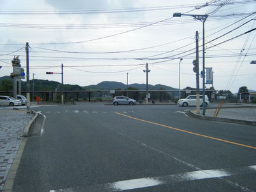
<svg viewBox="0 0 256 192"><path fill-rule="evenodd" d="M200 20L203 22L203 115L205 115L205 55L204 55L204 22L206 21L208 15L188 15L188 14L181 14L181 13L173 13L173 17L181 17L184 16L191 16L194 17L195 20Z"/></svg>

